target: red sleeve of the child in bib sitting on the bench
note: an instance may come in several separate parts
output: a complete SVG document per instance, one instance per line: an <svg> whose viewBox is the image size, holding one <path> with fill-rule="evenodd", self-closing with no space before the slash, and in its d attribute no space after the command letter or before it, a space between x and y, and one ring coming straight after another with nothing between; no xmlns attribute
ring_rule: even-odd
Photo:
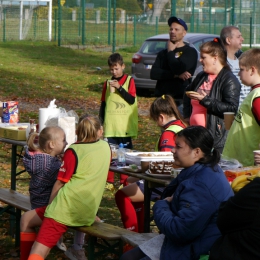
<svg viewBox="0 0 260 260"><path fill-rule="evenodd" d="M71 149L66 150L57 180L68 182L76 169L76 156Z"/></svg>

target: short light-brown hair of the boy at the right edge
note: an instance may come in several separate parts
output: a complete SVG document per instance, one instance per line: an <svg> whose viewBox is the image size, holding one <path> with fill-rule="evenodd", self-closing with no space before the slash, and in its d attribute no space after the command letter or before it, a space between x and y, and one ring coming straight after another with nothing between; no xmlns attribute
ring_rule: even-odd
<svg viewBox="0 0 260 260"><path fill-rule="evenodd" d="M256 67L260 73L260 48L252 48L245 51L239 57L239 65L244 66L247 70Z"/></svg>

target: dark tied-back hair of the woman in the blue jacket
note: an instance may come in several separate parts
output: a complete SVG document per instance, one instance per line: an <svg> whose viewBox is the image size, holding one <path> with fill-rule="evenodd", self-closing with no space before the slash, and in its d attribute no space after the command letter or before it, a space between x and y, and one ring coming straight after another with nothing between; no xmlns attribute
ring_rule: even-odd
<svg viewBox="0 0 260 260"><path fill-rule="evenodd" d="M203 126L189 126L176 134L178 137L184 137L185 143L191 148L200 148L204 154L198 162L210 164L214 168L220 161L220 153L214 149L214 138Z"/></svg>

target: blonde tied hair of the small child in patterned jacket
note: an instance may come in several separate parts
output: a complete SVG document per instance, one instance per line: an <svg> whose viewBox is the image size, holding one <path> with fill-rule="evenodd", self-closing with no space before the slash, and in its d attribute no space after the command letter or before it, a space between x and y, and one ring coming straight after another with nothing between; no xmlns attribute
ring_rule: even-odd
<svg viewBox="0 0 260 260"><path fill-rule="evenodd" d="M47 126L42 129L40 134L30 134L27 140L28 149L30 151L43 151L49 154L48 143L56 140L59 131L64 132L59 126ZM38 141L36 142L37 137Z"/></svg>

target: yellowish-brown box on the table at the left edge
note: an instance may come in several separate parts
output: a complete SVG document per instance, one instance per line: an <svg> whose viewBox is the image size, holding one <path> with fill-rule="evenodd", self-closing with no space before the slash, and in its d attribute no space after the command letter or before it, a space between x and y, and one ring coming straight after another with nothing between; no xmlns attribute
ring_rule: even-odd
<svg viewBox="0 0 260 260"><path fill-rule="evenodd" d="M0 137L25 141L27 125L3 126L0 127Z"/></svg>

